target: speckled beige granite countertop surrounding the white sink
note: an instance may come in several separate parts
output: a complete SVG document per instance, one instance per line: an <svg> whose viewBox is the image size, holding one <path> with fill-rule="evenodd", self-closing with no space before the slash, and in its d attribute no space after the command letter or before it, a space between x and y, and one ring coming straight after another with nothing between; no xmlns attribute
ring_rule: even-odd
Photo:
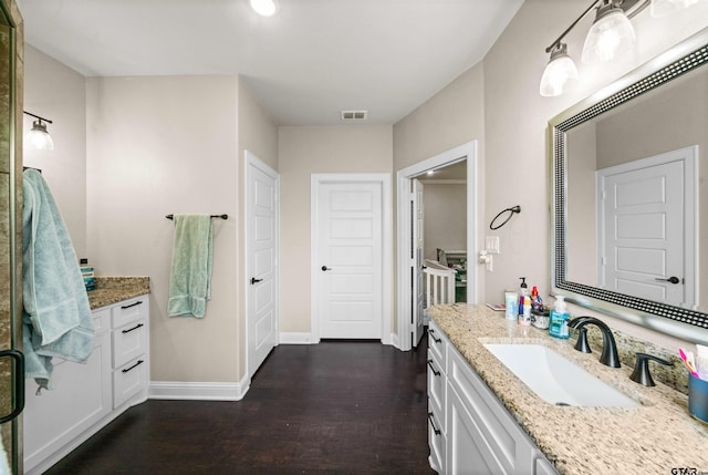
<svg viewBox="0 0 708 475"><path fill-rule="evenodd" d="M485 306L436 306L430 314L560 474L667 475L678 473L671 472L675 467L708 473L708 424L688 413L685 394L659 382L637 384L629 380L633 368L605 366L597 352L575 351L574 339L551 338L548 330L519 326ZM512 342L549 347L642 405L550 404L483 347Z"/></svg>

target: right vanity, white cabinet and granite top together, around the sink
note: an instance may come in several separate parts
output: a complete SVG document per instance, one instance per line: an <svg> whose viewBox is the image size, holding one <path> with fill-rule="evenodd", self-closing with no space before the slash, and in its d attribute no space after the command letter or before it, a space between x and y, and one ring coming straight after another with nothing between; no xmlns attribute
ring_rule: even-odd
<svg viewBox="0 0 708 475"><path fill-rule="evenodd" d="M598 352L575 351L572 339L553 339L483 306L436 306L430 314L428 432L438 473L472 466L538 475L708 471L708 424L689 415L685 394L637 384L632 366L605 366ZM549 403L485 347L493 343L546 347L637 405Z"/></svg>

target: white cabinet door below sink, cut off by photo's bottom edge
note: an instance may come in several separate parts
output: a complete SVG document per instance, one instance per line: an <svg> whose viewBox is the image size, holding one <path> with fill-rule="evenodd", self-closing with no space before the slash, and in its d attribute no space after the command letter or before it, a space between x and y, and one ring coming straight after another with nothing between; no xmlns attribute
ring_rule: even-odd
<svg viewBox="0 0 708 475"><path fill-rule="evenodd" d="M447 392L447 417L446 473L475 475L508 473L451 388L448 388Z"/></svg>

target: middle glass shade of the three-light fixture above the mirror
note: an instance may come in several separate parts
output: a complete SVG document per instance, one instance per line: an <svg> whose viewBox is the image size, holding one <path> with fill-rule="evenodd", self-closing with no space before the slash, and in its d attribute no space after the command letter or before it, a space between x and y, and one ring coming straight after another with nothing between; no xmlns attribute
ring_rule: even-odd
<svg viewBox="0 0 708 475"><path fill-rule="evenodd" d="M611 61L634 48L636 35L629 19L620 8L597 16L583 45L583 62Z"/></svg>

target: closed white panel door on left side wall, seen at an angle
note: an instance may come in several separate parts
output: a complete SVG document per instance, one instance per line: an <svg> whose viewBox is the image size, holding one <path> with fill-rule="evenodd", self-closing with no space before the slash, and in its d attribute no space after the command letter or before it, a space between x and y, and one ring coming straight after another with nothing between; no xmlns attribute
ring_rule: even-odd
<svg viewBox="0 0 708 475"><path fill-rule="evenodd" d="M278 174L247 152L247 334L253 375L278 344Z"/></svg>

